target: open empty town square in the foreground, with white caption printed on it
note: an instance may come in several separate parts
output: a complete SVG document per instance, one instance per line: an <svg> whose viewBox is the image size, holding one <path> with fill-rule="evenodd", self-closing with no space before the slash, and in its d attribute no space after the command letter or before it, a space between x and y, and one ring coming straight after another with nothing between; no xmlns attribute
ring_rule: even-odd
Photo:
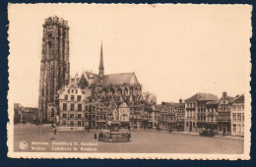
<svg viewBox="0 0 256 167"><path fill-rule="evenodd" d="M155 130L132 130L131 141L102 142L95 139L100 130L58 131L51 139L50 125L14 126L14 151L65 152L131 152L131 153L222 153L242 154L244 140L228 137L201 137ZM26 147L22 143L26 141Z"/></svg>

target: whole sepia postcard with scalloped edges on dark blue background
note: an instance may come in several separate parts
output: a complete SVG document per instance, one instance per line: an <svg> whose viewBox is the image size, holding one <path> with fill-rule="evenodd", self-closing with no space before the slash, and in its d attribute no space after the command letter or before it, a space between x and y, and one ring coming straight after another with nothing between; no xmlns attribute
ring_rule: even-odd
<svg viewBox="0 0 256 167"><path fill-rule="evenodd" d="M251 11L9 4L8 156L250 159Z"/></svg>

